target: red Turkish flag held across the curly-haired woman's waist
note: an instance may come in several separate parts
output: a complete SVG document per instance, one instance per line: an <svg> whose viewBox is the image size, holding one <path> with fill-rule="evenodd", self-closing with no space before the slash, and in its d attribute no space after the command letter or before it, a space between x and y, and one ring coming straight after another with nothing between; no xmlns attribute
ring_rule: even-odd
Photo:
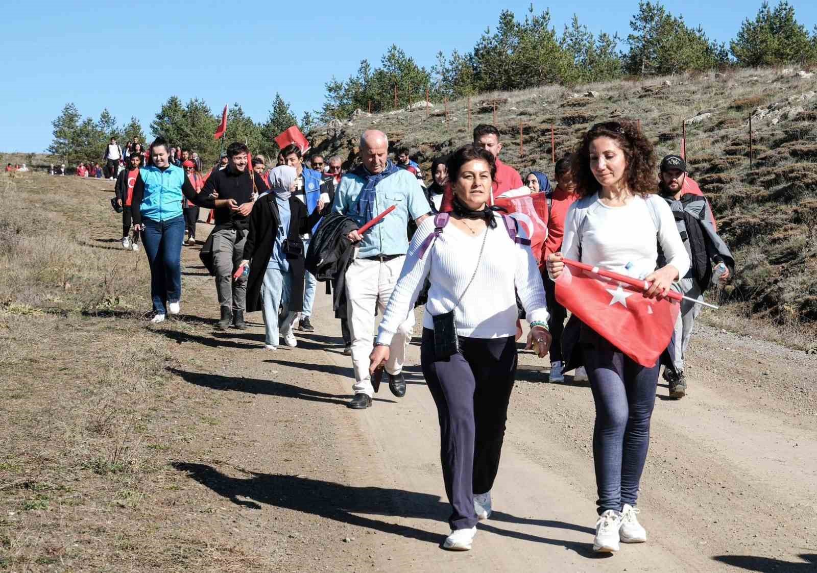
<svg viewBox="0 0 817 573"><path fill-rule="evenodd" d="M655 366L672 339L681 305L647 299L640 288L597 270L578 269L565 260L556 279L556 300L632 360Z"/></svg>

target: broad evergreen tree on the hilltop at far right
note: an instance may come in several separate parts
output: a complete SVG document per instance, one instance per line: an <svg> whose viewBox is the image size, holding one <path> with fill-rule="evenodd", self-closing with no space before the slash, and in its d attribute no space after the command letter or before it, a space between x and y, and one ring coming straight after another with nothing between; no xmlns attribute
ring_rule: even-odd
<svg viewBox="0 0 817 573"><path fill-rule="evenodd" d="M817 26L815 36L797 22L794 7L786 0L774 10L763 2L754 20L743 20L730 50L739 65L805 64L817 60Z"/></svg>

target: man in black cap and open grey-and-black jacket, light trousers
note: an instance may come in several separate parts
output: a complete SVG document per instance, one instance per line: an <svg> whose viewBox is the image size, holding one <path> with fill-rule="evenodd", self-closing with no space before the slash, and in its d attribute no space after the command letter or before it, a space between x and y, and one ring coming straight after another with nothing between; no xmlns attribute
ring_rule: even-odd
<svg viewBox="0 0 817 573"><path fill-rule="evenodd" d="M726 282L734 271L734 257L715 229L712 207L703 195L685 193L686 162L679 155L667 155L661 161L659 195L667 202L686 254L690 256L690 270L679 282L676 290L693 300L703 301L703 293L712 282ZM659 253L659 265L664 262ZM712 264L720 272L713 276ZM681 300L681 313L675 325L672 368L664 368L663 378L669 385L670 398L683 398L687 391L684 375L686 350L690 345L695 318L701 313L701 305Z"/></svg>

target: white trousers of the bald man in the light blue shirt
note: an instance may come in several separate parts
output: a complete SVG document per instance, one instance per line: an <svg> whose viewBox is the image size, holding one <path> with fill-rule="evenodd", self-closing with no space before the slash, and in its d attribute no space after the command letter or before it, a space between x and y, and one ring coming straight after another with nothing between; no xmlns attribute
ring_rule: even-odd
<svg viewBox="0 0 817 573"><path fill-rule="evenodd" d="M355 393L364 393L369 398L374 394L371 377L368 374L368 356L372 353L374 340L375 311L383 316L386 304L394 290L405 256L398 256L386 262L379 260L355 259L346 270L346 305L349 312L349 331L352 336L352 366L355 368ZM403 370L408 344L414 329L414 313L409 312L405 322L397 329L391 340L386 372L399 374Z"/></svg>

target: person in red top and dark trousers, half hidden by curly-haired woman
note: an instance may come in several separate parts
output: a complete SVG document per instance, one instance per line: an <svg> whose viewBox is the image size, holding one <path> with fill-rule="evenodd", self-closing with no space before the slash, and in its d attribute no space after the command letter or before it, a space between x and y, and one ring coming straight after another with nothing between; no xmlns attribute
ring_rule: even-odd
<svg viewBox="0 0 817 573"><path fill-rule="evenodd" d="M551 253L561 250L562 238L565 236L565 217L570 206L574 204L578 195L573 182L573 173L570 171L570 156L556 162L556 189L551 193L551 202L548 207L550 216L547 218L547 239L545 240L544 259ZM564 361L562 359L561 335L565 330L567 310L556 300L556 290L553 281L545 279L545 294L547 295L547 310L551 313L547 323L553 337L551 343L551 371L548 376L551 382L565 380ZM587 382L587 371L584 366L576 369L574 381Z"/></svg>

